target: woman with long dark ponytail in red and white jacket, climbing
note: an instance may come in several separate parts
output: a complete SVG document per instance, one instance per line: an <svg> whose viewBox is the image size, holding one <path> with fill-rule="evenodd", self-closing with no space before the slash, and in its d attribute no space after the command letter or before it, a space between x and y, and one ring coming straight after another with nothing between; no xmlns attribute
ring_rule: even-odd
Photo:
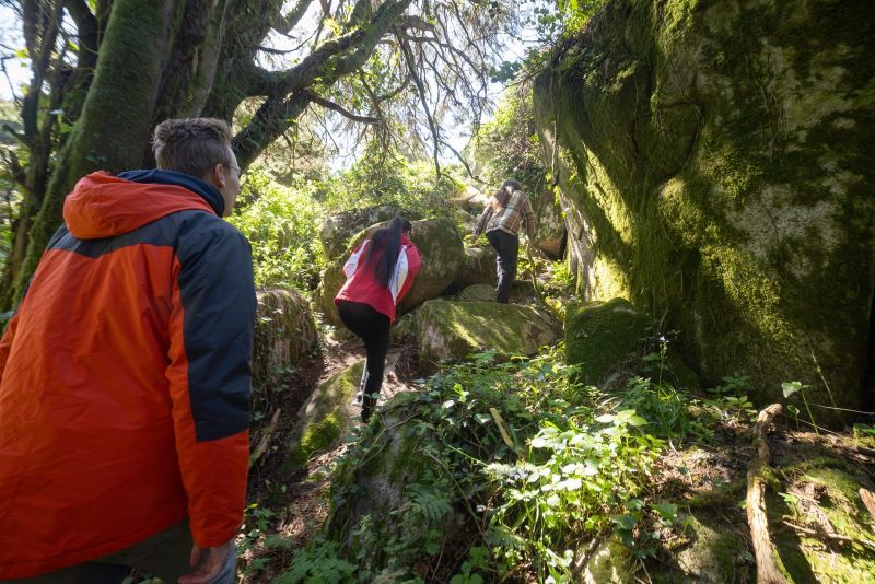
<svg viewBox="0 0 875 584"><path fill-rule="evenodd" d="M412 225L396 217L388 227L374 232L343 265L347 283L335 297L340 319L361 337L368 351L355 401L368 422L383 386L383 369L389 347L389 327L396 306L413 285L419 272L419 250L410 241Z"/></svg>

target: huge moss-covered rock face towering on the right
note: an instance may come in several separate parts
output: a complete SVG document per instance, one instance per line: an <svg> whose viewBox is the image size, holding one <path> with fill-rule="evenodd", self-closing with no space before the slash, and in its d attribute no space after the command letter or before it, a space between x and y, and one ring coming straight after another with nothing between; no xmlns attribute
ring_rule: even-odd
<svg viewBox="0 0 875 584"><path fill-rule="evenodd" d="M860 402L875 289L868 2L618 0L559 47L535 112L587 300L747 373ZM825 410L820 410L825 411Z"/></svg>

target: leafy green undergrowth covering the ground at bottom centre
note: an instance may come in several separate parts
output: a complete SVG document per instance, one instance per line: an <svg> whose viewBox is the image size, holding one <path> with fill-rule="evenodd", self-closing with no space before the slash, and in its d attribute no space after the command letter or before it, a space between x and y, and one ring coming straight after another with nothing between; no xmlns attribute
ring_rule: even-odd
<svg viewBox="0 0 875 584"><path fill-rule="evenodd" d="M709 440L718 405L663 375L607 396L575 383L562 351L510 363L480 353L389 402L339 463L334 513L362 494L337 477L357 477L399 435L413 449L405 464L421 467L406 470L401 507L339 522L275 582L330 582L331 571L350 582L571 582L598 541L643 560L677 538L685 521L654 494L653 463L669 441Z"/></svg>

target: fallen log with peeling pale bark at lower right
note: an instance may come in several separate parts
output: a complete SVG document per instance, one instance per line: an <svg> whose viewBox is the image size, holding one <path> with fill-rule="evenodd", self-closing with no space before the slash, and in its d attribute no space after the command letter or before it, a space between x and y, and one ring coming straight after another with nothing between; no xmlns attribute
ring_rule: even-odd
<svg viewBox="0 0 875 584"><path fill-rule="evenodd" d="M747 470L747 524L754 541L757 558L757 584L786 584L786 579L778 569L774 549L769 539L769 519L766 515L766 481L763 469L769 466L771 452L766 435L772 419L781 411L780 404L772 404L757 416L754 424L754 447L757 457Z"/></svg>

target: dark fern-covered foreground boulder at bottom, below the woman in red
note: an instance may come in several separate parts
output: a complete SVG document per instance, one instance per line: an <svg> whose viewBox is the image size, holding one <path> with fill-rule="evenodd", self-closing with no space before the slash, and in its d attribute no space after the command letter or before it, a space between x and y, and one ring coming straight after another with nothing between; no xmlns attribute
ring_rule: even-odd
<svg viewBox="0 0 875 584"><path fill-rule="evenodd" d="M326 535L354 559L357 582L375 582L387 567L386 582L411 581L416 564L433 553L430 545L464 537L456 491L443 463L429 456L434 446L416 423L416 408L405 394L393 397L334 472Z"/></svg>

